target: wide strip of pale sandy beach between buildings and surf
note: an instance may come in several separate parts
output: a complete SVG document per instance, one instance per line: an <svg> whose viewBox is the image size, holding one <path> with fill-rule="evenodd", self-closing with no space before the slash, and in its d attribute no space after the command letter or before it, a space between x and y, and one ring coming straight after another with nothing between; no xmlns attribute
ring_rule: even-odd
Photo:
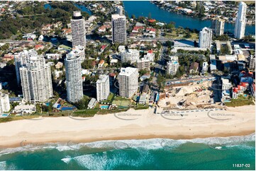
<svg viewBox="0 0 256 171"><path fill-rule="evenodd" d="M0 124L0 147L26 143L90 142L144 138L206 138L255 132L255 106L154 114L154 109L81 117L45 117ZM161 111L160 111L161 112Z"/></svg>

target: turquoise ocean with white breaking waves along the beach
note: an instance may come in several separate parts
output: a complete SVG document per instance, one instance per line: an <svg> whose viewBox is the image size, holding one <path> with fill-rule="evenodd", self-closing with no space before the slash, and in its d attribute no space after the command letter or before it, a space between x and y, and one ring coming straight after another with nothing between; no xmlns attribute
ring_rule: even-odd
<svg viewBox="0 0 256 171"><path fill-rule="evenodd" d="M238 167L234 167L234 164ZM255 134L2 148L0 170L255 170Z"/></svg>

